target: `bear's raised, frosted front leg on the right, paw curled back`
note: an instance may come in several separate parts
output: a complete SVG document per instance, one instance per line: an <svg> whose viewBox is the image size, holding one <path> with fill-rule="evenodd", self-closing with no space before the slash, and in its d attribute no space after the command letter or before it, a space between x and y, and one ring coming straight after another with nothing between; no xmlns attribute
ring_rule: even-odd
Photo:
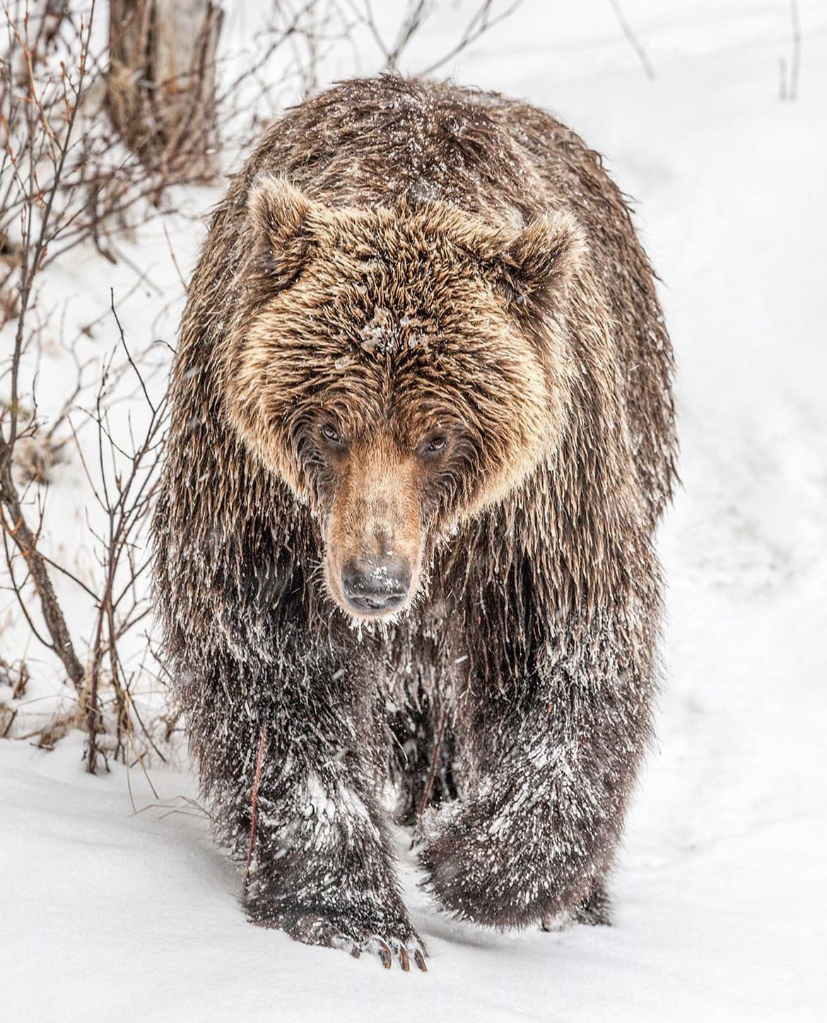
<svg viewBox="0 0 827 1023"><path fill-rule="evenodd" d="M649 730L647 686L628 674L590 685L566 672L526 690L493 713L485 699L467 706L469 687L466 791L421 828L427 887L495 927L577 919L603 891Z"/></svg>

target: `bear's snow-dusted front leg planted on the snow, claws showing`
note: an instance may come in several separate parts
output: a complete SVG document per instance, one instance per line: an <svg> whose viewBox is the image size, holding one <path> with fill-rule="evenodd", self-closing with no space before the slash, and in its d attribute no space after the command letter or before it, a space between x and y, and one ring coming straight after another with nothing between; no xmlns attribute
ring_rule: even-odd
<svg viewBox="0 0 827 1023"><path fill-rule="evenodd" d="M294 637L279 649L289 657L278 666L215 665L191 717L218 830L246 863L246 913L308 944L424 970L380 805L385 738L364 673L301 658Z"/></svg>

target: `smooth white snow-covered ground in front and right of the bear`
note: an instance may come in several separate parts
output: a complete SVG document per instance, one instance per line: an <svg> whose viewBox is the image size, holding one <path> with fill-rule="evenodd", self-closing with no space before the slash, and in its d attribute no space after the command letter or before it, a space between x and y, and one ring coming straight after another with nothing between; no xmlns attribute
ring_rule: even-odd
<svg viewBox="0 0 827 1023"><path fill-rule="evenodd" d="M783 0L627 0L653 80L608 2L525 0L446 70L604 152L663 278L685 489L661 531L668 680L614 926L457 925L403 853L429 973L386 973L245 922L189 773L152 768L156 797L137 768L84 774L77 733L51 753L0 742L0 1018L827 1018L827 9L798 7L794 102ZM409 66L446 32L431 23ZM199 228L180 230L186 266ZM165 244L147 233L133 259ZM95 266L66 281L105 309L118 280Z"/></svg>

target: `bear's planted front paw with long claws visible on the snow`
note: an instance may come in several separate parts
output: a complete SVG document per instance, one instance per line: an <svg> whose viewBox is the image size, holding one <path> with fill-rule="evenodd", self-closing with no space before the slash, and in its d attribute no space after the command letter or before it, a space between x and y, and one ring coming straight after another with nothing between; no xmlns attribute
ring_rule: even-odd
<svg viewBox="0 0 827 1023"><path fill-rule="evenodd" d="M404 917L394 919L378 906L303 906L258 895L245 900L245 909L254 924L278 928L306 945L341 948L356 959L364 951L373 952L385 970L396 959L407 972L413 961L427 972L424 945L411 924Z"/></svg>

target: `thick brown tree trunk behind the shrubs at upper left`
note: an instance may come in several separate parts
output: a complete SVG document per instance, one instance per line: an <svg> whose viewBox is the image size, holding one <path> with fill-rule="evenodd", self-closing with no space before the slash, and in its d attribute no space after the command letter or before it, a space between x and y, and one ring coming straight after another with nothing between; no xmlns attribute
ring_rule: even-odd
<svg viewBox="0 0 827 1023"><path fill-rule="evenodd" d="M110 0L109 114L143 165L166 179L215 173L223 18L212 0Z"/></svg>

